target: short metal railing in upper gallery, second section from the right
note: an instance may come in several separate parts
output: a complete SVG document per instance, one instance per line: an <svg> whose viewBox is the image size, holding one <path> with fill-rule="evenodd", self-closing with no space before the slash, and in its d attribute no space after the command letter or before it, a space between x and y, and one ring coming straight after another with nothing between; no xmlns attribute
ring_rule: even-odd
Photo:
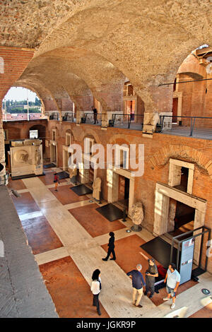
<svg viewBox="0 0 212 332"><path fill-rule="evenodd" d="M109 126L128 129L143 129L143 114L112 114Z"/></svg>

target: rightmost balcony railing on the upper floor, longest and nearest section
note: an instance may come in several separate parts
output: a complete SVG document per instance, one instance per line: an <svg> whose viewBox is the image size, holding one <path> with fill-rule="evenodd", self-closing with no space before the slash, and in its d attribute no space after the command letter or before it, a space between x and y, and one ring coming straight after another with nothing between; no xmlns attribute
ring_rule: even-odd
<svg viewBox="0 0 212 332"><path fill-rule="evenodd" d="M212 139L212 117L160 115L158 129L163 134Z"/></svg>

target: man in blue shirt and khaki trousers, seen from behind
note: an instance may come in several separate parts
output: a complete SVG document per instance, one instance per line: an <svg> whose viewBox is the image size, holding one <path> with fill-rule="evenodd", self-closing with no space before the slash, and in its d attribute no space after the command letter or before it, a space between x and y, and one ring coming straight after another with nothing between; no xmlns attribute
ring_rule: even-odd
<svg viewBox="0 0 212 332"><path fill-rule="evenodd" d="M143 275L141 274L141 264L138 264L136 266L136 270L132 270L126 275L129 275L130 278L132 278L132 287L133 287L133 304L136 307L142 308L142 305L140 304L141 297L143 295L143 285L146 286L146 283L143 280ZM138 297L136 300L136 295L138 293Z"/></svg>

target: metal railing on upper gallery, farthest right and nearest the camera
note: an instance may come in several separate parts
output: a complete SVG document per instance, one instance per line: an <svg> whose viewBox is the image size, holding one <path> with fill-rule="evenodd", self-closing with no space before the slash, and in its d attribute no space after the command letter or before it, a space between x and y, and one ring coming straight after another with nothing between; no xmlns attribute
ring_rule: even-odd
<svg viewBox="0 0 212 332"><path fill-rule="evenodd" d="M207 119L205 122L204 119ZM160 115L160 129L161 131L172 130L172 129L189 129L187 130L186 136L193 136L194 128L199 131L206 131L208 133L211 131L212 134L212 121L211 123L208 120L212 120L212 117L185 117L185 116L175 116L175 115ZM176 126L177 125L177 126ZM196 125L196 127L195 127ZM184 130L186 134L186 130ZM206 131L207 134L207 131Z"/></svg>

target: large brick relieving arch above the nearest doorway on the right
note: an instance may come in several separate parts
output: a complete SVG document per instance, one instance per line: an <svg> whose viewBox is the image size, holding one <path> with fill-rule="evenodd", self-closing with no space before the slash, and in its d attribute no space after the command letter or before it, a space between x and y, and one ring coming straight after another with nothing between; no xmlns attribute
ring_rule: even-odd
<svg viewBox="0 0 212 332"><path fill-rule="evenodd" d="M170 158L186 162L194 162L202 172L206 172L212 179L212 160L199 150L189 146L170 145L160 149L148 159L152 169L163 167Z"/></svg>

